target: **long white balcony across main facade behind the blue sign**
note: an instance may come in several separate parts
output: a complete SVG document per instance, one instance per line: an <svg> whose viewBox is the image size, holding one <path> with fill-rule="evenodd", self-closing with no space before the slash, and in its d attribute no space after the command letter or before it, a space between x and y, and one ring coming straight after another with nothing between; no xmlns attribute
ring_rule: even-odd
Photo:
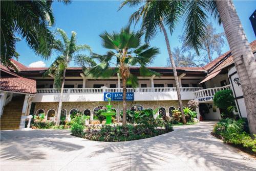
<svg viewBox="0 0 256 171"><path fill-rule="evenodd" d="M181 99L194 99L194 92L201 87L181 87ZM65 88L63 102L99 102L103 101L104 92L122 92L122 88ZM176 88L127 88L127 92L134 92L134 101L166 101L178 100ZM32 102L58 102L59 89L37 89Z"/></svg>

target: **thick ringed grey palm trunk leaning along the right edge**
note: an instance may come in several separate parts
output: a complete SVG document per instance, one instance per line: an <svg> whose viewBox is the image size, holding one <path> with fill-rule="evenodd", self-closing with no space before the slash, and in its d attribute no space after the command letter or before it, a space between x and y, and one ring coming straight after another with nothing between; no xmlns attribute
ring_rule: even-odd
<svg viewBox="0 0 256 171"><path fill-rule="evenodd" d="M240 78L251 135L256 134L256 62L232 1L216 1Z"/></svg>

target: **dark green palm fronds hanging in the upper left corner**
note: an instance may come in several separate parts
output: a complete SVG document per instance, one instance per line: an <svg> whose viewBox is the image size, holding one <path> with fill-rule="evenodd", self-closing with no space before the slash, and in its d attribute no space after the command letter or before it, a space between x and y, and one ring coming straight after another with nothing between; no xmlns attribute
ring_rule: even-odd
<svg viewBox="0 0 256 171"><path fill-rule="evenodd" d="M54 24L53 1L1 1L1 63L11 65L18 57L15 51L17 38L26 40L37 55L50 56L53 36L49 26ZM69 4L70 1L63 1ZM15 67L14 67L15 68Z"/></svg>

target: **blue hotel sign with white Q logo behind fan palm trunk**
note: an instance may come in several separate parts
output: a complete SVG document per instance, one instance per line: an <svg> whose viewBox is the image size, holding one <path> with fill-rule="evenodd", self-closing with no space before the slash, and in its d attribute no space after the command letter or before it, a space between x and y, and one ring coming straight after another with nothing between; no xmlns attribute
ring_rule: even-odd
<svg viewBox="0 0 256 171"><path fill-rule="evenodd" d="M123 93L122 92L104 92L104 101L123 101ZM126 92L126 101L134 101L134 93Z"/></svg>

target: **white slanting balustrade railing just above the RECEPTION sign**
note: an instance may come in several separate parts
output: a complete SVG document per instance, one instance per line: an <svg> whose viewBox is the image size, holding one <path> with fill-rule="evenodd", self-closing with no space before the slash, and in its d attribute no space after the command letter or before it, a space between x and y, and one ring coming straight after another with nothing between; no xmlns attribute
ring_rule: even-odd
<svg viewBox="0 0 256 171"><path fill-rule="evenodd" d="M214 96L214 94L217 91L226 90L226 89L230 89L230 84L223 87L214 87L214 88L206 88L206 89L198 90L194 92L195 99L200 97L205 97L205 96Z"/></svg>

